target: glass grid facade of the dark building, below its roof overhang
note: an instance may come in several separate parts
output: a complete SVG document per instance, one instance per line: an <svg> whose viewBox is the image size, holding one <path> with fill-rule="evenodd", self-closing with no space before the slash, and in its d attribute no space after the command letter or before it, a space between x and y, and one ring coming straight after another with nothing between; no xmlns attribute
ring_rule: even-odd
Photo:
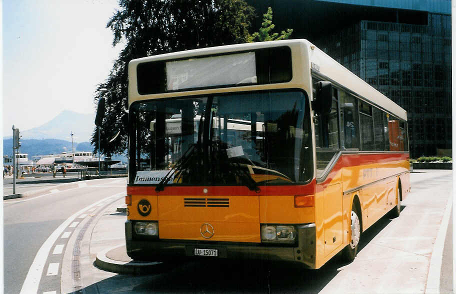
<svg viewBox="0 0 456 294"><path fill-rule="evenodd" d="M360 20L315 44L407 111L411 157L451 148L451 17Z"/></svg>

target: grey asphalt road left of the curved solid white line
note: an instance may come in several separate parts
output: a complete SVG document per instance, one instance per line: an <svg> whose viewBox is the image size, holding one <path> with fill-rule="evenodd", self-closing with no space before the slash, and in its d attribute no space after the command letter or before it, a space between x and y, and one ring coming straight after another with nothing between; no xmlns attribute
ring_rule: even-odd
<svg viewBox="0 0 456 294"><path fill-rule="evenodd" d="M63 221L83 207L125 190L124 178L87 182L90 185L76 182L68 190L62 189L44 196L4 200L5 293L19 293L38 249ZM55 260L54 263L61 261ZM45 282L54 284L54 288L60 287L59 278Z"/></svg>

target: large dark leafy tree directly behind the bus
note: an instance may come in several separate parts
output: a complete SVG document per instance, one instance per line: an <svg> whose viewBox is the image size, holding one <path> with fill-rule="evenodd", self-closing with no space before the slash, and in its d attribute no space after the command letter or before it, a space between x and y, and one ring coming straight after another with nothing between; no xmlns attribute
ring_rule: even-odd
<svg viewBox="0 0 456 294"><path fill-rule="evenodd" d="M199 47L243 43L254 9L243 0L119 0L107 22L113 32L112 45L125 47L114 61L107 79L97 87L106 88L106 112L91 143L103 154L124 153L127 148L128 62L131 59ZM108 141L120 130L117 138Z"/></svg>

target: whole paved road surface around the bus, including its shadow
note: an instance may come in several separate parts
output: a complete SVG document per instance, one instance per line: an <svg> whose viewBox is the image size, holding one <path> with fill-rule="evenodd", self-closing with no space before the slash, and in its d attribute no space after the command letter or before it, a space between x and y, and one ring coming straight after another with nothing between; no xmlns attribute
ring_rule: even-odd
<svg viewBox="0 0 456 294"><path fill-rule="evenodd" d="M348 264L340 263L337 256L318 270L239 260L185 262L169 265L160 272L127 275L95 268L91 260L80 268L81 276L90 277L90 282L82 286L87 293L423 293L432 251L435 249L434 243L451 194L451 178L451 170L423 170L412 173L412 191L401 203L400 216L395 219L383 217L367 229L361 235L360 250L355 260ZM125 191L125 179L84 182L94 181L97 183L25 202L13 203L17 199L4 201L5 293L20 291L39 247L60 224L68 221L69 216L102 198L117 194L117 197L98 204L101 206L94 206L107 209L99 210L101 212L98 214L114 214L109 212L109 209L115 208L109 207L115 207L114 204L122 202L118 195ZM80 183L78 182L78 185ZM110 202L113 203L111 206ZM93 213L95 215L96 210ZM109 233L109 239L118 240L123 234L124 218L113 217L116 217L116 220L111 223L116 228ZM99 235L99 231L88 229L82 241L93 236L98 238ZM73 240L75 239L74 235ZM74 252L77 249L75 244L77 241L68 242L69 247L63 250ZM445 252L444 254L447 254ZM61 262L63 257L52 255L49 253L48 256L52 263ZM71 258L71 254L68 256ZM38 292L56 289L56 293L59 293L58 283L68 280L66 275L69 273L58 271L54 278L49 278L46 275L47 263ZM66 260L66 263L71 264L71 260Z"/></svg>

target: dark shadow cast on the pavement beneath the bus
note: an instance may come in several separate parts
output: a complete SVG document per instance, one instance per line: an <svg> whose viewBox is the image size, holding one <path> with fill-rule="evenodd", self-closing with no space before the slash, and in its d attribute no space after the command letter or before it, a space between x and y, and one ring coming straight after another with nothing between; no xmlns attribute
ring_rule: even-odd
<svg viewBox="0 0 456 294"><path fill-rule="evenodd" d="M401 206L403 210L405 206ZM362 250L391 222L385 215L361 235ZM316 293L337 275L342 263L338 255L321 268L304 269L297 265L270 263L266 260L217 260L166 263L148 274L116 274L86 286L86 293ZM342 290L343 291L343 290Z"/></svg>

